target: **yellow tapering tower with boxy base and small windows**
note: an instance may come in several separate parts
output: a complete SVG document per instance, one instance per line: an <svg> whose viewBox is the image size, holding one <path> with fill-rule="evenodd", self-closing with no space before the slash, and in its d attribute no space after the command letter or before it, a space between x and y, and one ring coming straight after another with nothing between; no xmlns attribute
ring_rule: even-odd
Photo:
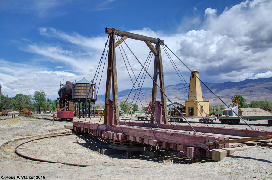
<svg viewBox="0 0 272 180"><path fill-rule="evenodd" d="M207 113L209 116L209 101L203 101L202 89L199 81L199 72L196 70L191 72L188 101L185 101L185 106L186 116L206 116L205 113Z"/></svg>

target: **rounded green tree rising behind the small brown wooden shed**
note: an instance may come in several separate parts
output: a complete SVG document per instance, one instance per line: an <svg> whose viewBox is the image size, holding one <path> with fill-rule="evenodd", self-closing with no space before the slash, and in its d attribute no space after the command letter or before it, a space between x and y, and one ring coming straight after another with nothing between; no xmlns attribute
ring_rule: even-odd
<svg viewBox="0 0 272 180"><path fill-rule="evenodd" d="M31 95L23 95L16 94L12 99L13 109L16 111L20 111L22 108L26 107L28 109L32 108L32 96Z"/></svg>

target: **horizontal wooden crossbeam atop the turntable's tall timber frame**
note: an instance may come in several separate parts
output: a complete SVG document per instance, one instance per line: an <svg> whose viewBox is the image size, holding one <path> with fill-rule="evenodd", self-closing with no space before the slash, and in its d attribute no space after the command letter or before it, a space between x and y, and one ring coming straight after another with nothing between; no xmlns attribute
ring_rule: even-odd
<svg viewBox="0 0 272 180"><path fill-rule="evenodd" d="M135 39L135 40L141 40L141 41L150 41L151 43L158 43L158 39L153 38L153 37L148 37L148 36L143 36L140 34L134 34L134 33L129 33L126 31L121 31L115 29L118 33L114 32L116 35L120 36L127 36L128 38ZM112 28L106 27L105 33L110 34L112 33ZM161 40L164 43L164 40Z"/></svg>

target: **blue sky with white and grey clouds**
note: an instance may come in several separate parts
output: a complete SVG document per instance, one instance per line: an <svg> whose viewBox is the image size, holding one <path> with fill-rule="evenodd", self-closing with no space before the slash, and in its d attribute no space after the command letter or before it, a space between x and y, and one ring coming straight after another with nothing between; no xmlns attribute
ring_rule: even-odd
<svg viewBox="0 0 272 180"><path fill-rule="evenodd" d="M2 92L15 96L43 89L54 99L63 79L93 79L108 36L105 27L163 39L205 82L271 77L271 9L269 0L2 0ZM144 62L149 53L146 45L130 39L126 42ZM122 71L125 66L120 53L116 56L118 90L129 89L132 83ZM167 56L162 56L166 85L180 83ZM139 73L140 65L132 55L128 57ZM189 81L189 72L181 64L178 67ZM99 94L105 92L103 82L104 75ZM144 86L150 84L147 80Z"/></svg>

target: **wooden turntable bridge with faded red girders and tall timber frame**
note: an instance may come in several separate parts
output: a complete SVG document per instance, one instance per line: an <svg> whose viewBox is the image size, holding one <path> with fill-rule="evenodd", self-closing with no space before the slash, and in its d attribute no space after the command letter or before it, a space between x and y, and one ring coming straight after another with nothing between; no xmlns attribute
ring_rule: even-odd
<svg viewBox="0 0 272 180"><path fill-rule="evenodd" d="M164 112L167 112L166 96L164 95L164 74L160 50L160 45L161 43L164 43L164 41L139 34L115 30L114 28L108 27L105 29L105 33L110 34L110 40L106 79L104 124L74 121L73 127L71 128L73 128L75 131L93 133L96 136L105 137L116 141L134 141L138 143L145 143L151 146L172 148L173 150L180 150L184 153L187 153L188 158L192 159L199 159L199 157L202 156L212 158L212 149L228 148L228 143L207 145L209 142L228 140L229 137L224 135L264 136L272 134L272 131L239 130L232 128L168 124L167 115L162 111L164 109ZM115 35L122 37L121 40L116 43ZM156 114L156 119L154 120L154 118L151 118L150 123L144 124L138 122L119 121L115 47L120 45L127 38L144 41L155 55L151 111L153 114ZM155 48L153 47L152 43L155 44ZM161 102L156 101L156 83L158 75L160 79L160 88L164 92L161 92ZM110 100L111 84L113 100ZM154 124L154 121L156 121L156 124ZM179 130L183 130L183 132L180 132ZM193 130L195 133L192 133ZM205 133L222 134L222 136Z"/></svg>

